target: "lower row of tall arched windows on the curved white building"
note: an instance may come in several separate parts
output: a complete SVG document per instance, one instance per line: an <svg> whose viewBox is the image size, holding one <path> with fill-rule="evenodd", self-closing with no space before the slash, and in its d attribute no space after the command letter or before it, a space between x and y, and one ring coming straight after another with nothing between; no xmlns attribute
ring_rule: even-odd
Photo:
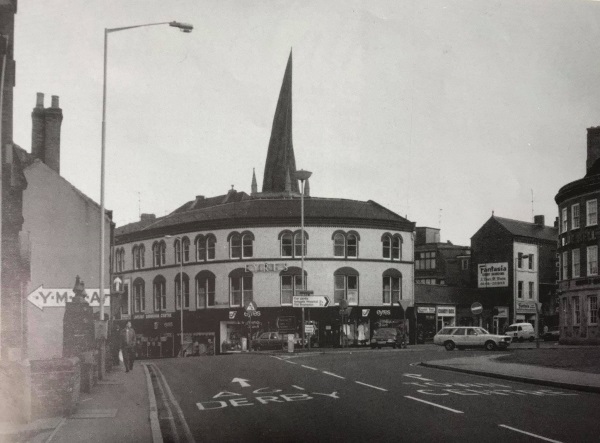
<svg viewBox="0 0 600 443"><path fill-rule="evenodd" d="M359 304L359 273L351 267L337 269L334 274L333 300L339 304L346 300L350 306ZM229 278L229 306L243 307L253 300L254 275L244 268L231 271ZM289 267L279 274L280 302L282 306L292 305L294 295L300 295L303 290L302 271L298 267ZM167 309L167 281L158 275L152 281L152 309L155 312ZM308 275L304 272L304 288L308 286ZM146 310L146 283L137 278L132 285L132 303L136 313ZM173 280L175 309L191 307L190 278L186 273L177 274ZM193 296L195 308L204 309L215 306L216 276L210 271L203 270L194 278ZM398 303L402 299L402 274L397 269L388 269L382 274L382 303Z"/></svg>

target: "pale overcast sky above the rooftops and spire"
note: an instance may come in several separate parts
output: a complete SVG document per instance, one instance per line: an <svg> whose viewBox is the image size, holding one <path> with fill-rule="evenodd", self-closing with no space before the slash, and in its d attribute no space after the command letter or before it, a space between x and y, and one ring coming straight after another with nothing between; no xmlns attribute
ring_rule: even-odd
<svg viewBox="0 0 600 443"><path fill-rule="evenodd" d="M196 195L262 187L293 51L293 142L311 195L374 200L470 245L494 212L551 225L600 126L591 0L27 0L15 23L14 141L60 97L61 175L117 226Z"/></svg>

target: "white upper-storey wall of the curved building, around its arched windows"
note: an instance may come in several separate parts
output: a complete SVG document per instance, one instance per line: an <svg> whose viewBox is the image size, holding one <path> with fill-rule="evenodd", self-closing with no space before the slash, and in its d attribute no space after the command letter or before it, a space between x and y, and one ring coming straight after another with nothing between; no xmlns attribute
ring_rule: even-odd
<svg viewBox="0 0 600 443"><path fill-rule="evenodd" d="M301 267L301 260L293 258L282 258L280 254L279 234L281 231L299 230L298 226L291 227L267 227L267 228L244 228L195 231L177 234L178 237L187 236L190 239L190 261L184 263L183 272L190 278L190 309L196 309L194 278L203 270L211 271L216 276L216 295L214 308L229 308L229 273L236 268L244 268L246 265L274 263L287 264L288 267ZM358 258L342 259L333 255L333 233L337 230L348 232L356 231L360 236L358 243ZM229 243L227 236L233 232L250 231L254 234L254 254L251 259L229 259ZM307 273L307 289L314 291L315 295L325 295L333 301L334 272L341 267L352 267L359 273L359 305L360 306L384 306L382 302L382 274L389 268L394 268L402 273L402 299L409 300L413 304L413 257L414 236L409 231L392 231L384 229L369 228L346 228L346 227L313 227L305 228L308 234L307 255L304 261L304 269ZM402 243L402 260L383 259L383 244L381 236L400 234ZM207 262L195 262L194 239L198 234L213 234L217 238L215 260ZM166 264L160 268L152 267L152 244L157 240L164 240L166 248ZM174 238L159 237L152 240L120 244L117 248L125 250L125 270L120 275L123 279L133 281L141 277L145 281L146 313L152 313L152 281L157 275L166 279L167 311L175 310L174 280L179 273L180 266L175 263ZM131 251L134 245L145 246L145 269L132 270ZM253 297L259 307L279 307L280 301L280 278L279 271L276 272L254 272ZM214 309L212 308L212 309ZM211 309L211 308L209 308Z"/></svg>

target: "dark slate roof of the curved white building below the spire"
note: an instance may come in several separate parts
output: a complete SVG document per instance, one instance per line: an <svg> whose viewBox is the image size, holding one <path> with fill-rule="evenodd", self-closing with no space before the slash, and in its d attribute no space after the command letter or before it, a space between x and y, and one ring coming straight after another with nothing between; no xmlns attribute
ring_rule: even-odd
<svg viewBox="0 0 600 443"><path fill-rule="evenodd" d="M179 207L171 214L148 223L136 222L115 230L117 242L135 238L151 238L161 232L175 233L193 229L243 228L252 226L277 226L298 224L300 221L300 198L256 198L245 193L233 201L221 203L219 196L205 199L212 206L189 209L191 202ZM258 194L260 196L260 194ZM207 203L208 204L208 203ZM368 226L387 229L413 230L414 223L380 204L369 201L336 198L306 197L304 218L307 224L332 226Z"/></svg>

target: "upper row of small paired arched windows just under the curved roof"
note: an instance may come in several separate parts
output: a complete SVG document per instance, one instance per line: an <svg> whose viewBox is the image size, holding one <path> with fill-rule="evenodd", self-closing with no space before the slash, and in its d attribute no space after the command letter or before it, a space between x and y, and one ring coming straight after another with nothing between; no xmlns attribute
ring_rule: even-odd
<svg viewBox="0 0 600 443"><path fill-rule="evenodd" d="M339 258L358 258L360 235L356 231L337 230L331 237L333 241L333 256ZM304 241L300 230L284 230L278 236L280 254L282 258L299 258L307 255L308 233L304 232ZM250 231L231 232L227 236L230 259L252 258L254 256L254 234ZM385 233L381 236L382 258L388 260L402 260L402 236L400 234ZM175 263L191 261L204 262L215 260L217 238L214 234L201 234L194 239L194 250L191 251L190 239L186 236L177 237L173 242ZM167 244L164 240L157 240L152 244L152 266L161 267L166 264ZM133 269L145 267L146 250L143 244L134 245L132 248ZM115 251L115 272L125 270L125 249L117 248ZM352 283L352 282L351 282ZM340 283L341 284L341 283Z"/></svg>

